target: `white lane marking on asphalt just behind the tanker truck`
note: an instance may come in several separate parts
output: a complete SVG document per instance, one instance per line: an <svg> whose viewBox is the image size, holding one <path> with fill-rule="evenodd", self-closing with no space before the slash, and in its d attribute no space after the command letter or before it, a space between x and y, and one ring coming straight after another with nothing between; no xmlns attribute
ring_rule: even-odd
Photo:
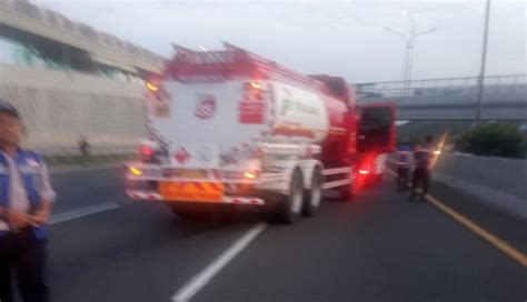
<svg viewBox="0 0 527 302"><path fill-rule="evenodd" d="M229 249L219 255L205 270L192 278L185 286L172 295L173 302L187 302L197 294L212 278L221 271L237 254L243 251L265 229L266 223L259 223L250 229L243 236L239 238Z"/></svg>

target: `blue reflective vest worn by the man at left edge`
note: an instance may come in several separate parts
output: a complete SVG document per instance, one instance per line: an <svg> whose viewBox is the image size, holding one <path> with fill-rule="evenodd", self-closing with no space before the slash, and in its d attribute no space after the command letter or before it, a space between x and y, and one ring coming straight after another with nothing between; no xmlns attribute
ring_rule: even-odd
<svg viewBox="0 0 527 302"><path fill-rule="evenodd" d="M33 151L19 150L14 162L28 194L30 211L33 211L40 207L41 201L40 191L43 187L42 157ZM9 174L10 169L8 164L6 155L0 153L0 207L3 209L10 208L11 175ZM33 226L32 229L37 239L46 238L46 228ZM0 231L0 236L6 233L6 231Z"/></svg>

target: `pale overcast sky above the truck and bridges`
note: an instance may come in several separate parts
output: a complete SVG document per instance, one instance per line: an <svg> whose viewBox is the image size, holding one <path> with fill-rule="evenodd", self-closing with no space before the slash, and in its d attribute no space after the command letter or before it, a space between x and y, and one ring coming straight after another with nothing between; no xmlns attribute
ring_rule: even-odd
<svg viewBox="0 0 527 302"><path fill-rule="evenodd" d="M416 38L412 79L475 77L483 0L32 0L97 30L173 56L171 43L221 49L228 41L302 73L350 82L402 79L404 39ZM487 74L527 73L523 0L493 0Z"/></svg>

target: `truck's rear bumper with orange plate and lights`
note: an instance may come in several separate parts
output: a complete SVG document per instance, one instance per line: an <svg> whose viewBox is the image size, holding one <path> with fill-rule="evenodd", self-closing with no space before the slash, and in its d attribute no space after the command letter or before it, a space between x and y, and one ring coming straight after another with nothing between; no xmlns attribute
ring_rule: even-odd
<svg viewBox="0 0 527 302"><path fill-rule="evenodd" d="M132 200L272 205L278 200L277 195L288 193L288 184L285 182L288 175L284 172L257 173L253 178L247 178L245 171L202 170L207 172L206 177L198 179L175 175L170 173L175 170L170 167L139 162L127 163L125 167L126 193ZM163 193L162 188L167 183L189 188L191 192L176 195L167 194L166 191ZM190 198L187 199L188 195ZM206 198L201 200L201 195Z"/></svg>

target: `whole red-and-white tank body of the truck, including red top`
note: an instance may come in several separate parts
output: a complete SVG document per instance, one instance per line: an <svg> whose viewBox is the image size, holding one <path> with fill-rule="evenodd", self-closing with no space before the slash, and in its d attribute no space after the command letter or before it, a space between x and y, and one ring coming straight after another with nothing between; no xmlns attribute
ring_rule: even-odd
<svg viewBox="0 0 527 302"><path fill-rule="evenodd" d="M170 149L176 167L240 164L260 143L316 144L320 160L342 161L355 152L355 103L347 101L345 88L338 94L319 80L335 87L342 79L317 77L265 64L236 49L182 50L151 84L147 128Z"/></svg>

